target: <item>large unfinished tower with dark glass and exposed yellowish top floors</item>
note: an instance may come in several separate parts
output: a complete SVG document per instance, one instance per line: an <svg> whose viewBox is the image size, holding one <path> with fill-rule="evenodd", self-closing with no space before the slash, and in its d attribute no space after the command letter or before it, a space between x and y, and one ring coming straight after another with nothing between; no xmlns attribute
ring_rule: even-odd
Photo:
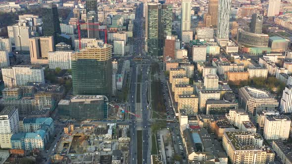
<svg viewBox="0 0 292 164"><path fill-rule="evenodd" d="M74 95L111 96L112 46L92 41L72 54L72 82Z"/></svg>

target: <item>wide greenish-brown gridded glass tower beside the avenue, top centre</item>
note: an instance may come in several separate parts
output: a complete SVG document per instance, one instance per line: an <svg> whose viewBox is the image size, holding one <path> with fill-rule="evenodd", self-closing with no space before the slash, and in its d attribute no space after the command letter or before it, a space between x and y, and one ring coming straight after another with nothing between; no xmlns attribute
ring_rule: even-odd
<svg viewBox="0 0 292 164"><path fill-rule="evenodd" d="M151 3L146 7L146 51L149 55L162 56L166 36L171 35L172 6Z"/></svg>

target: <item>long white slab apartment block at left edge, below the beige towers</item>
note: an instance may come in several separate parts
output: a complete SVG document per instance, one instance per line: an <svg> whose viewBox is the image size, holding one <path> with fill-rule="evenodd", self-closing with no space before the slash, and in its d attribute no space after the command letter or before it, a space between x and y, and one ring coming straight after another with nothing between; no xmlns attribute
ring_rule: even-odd
<svg viewBox="0 0 292 164"><path fill-rule="evenodd" d="M2 68L2 78L6 87L27 85L29 82L45 83L42 66L22 66Z"/></svg>

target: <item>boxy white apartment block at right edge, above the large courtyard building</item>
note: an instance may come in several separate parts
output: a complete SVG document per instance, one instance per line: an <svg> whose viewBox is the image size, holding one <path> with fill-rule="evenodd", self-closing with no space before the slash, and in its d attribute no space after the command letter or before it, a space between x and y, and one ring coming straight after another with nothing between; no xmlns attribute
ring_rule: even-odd
<svg viewBox="0 0 292 164"><path fill-rule="evenodd" d="M291 126L291 120L284 115L278 116L266 116L264 123L264 138L270 139L282 139L287 140L289 138L289 130Z"/></svg>

